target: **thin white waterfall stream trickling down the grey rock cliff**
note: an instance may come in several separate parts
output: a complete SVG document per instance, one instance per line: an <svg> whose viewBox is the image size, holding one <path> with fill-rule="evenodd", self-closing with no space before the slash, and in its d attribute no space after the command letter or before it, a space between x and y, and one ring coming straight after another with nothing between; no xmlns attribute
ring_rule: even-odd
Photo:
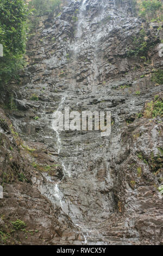
<svg viewBox="0 0 163 256"><path fill-rule="evenodd" d="M87 0L84 0L82 5L80 5L79 14L78 14L78 26L77 26L76 42L75 42L75 47L74 47L74 56L75 56L75 65L76 66L78 65L78 52L80 51L80 47L85 47L85 45L82 45L83 25L85 25L87 27L87 29L90 29L88 23L85 21L86 2L87 2ZM89 42L87 42L87 46L89 46ZM95 81L97 80L97 76L98 76L97 54L96 54L97 53L97 46L95 46L94 51L95 52L93 54L95 55L95 58L94 58L95 63L93 64L93 67L92 67L93 72L92 72L92 77L90 78L90 80L91 80L91 82L93 83L93 85L95 87L97 85L95 83ZM74 70L76 71L76 69L74 69ZM92 84L91 82L90 82L90 84ZM93 92L93 88L91 87L90 89ZM60 100L57 111L53 113L53 119L56 118L57 113L62 110L62 107L65 103L65 100L66 100L66 97L63 96ZM79 102L77 102L77 106L78 106L78 103ZM58 155L59 155L60 150L62 149L62 142L61 142L60 132L58 131L58 129L56 129L56 127L54 125L54 122L52 122L52 129L56 133ZM78 153L77 153L78 150L79 150L79 147L77 145L76 149L75 149L76 159L77 159L77 156L78 156ZM62 160L61 160L61 164L62 164L62 167L63 167L63 170L64 170L64 176L68 175L68 177L70 178L71 173L70 173L69 170L66 169L65 164ZM55 184L55 194L54 194L54 196L60 202L60 206L61 206L62 210L65 210L65 209L67 209L67 207L71 208L71 204L68 204L68 206L67 206L65 204L65 200L62 199L63 195L62 195L62 193L60 191L60 188L59 188L60 182ZM67 214L68 214L68 212L67 212ZM85 245L88 245L90 243L89 242L90 237L92 237L91 238L92 243L96 243L96 236L101 237L101 234L99 234L95 229L89 229L88 227L85 227L85 225L83 223L77 222L71 216L69 216L69 217L71 218L72 222L76 225L76 227L79 228L80 232L82 233L82 235L84 237L84 244Z"/></svg>

